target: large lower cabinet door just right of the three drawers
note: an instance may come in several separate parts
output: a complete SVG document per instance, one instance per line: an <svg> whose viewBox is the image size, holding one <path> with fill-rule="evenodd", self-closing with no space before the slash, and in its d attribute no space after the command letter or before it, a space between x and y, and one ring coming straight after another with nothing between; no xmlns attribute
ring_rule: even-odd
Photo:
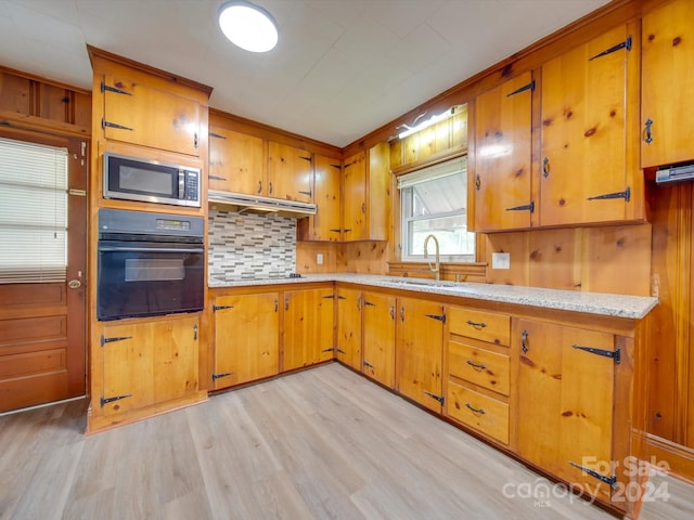
<svg viewBox="0 0 694 520"><path fill-rule="evenodd" d="M612 461L615 362L579 347L612 352L614 336L528 320L515 321L513 330L519 455L609 499L609 485L579 467L613 477L604 471Z"/></svg>

